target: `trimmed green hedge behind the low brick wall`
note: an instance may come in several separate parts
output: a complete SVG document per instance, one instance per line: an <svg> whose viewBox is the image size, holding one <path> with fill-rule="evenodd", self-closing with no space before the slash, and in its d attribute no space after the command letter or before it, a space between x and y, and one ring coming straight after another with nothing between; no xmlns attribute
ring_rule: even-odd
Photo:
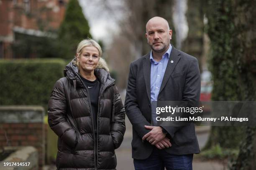
<svg viewBox="0 0 256 170"><path fill-rule="evenodd" d="M61 59L0 60L0 105L46 107L65 65Z"/></svg>

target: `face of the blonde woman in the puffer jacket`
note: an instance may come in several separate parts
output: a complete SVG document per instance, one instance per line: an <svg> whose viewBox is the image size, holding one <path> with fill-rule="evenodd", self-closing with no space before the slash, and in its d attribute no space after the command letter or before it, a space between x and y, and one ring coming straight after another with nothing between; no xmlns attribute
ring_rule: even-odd
<svg viewBox="0 0 256 170"><path fill-rule="evenodd" d="M99 62L99 51L96 47L83 47L80 54L77 54L77 60L80 62L80 71L94 72Z"/></svg>

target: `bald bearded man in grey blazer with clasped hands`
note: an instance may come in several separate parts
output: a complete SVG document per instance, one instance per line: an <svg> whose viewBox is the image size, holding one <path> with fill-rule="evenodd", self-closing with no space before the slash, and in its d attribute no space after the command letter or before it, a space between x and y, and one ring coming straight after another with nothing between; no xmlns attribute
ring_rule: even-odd
<svg viewBox="0 0 256 170"><path fill-rule="evenodd" d="M146 24L151 53L130 65L125 97L126 114L133 125L132 157L136 170L192 170L200 153L195 125L151 126L152 101L199 101L198 62L170 44L172 30L164 18Z"/></svg>

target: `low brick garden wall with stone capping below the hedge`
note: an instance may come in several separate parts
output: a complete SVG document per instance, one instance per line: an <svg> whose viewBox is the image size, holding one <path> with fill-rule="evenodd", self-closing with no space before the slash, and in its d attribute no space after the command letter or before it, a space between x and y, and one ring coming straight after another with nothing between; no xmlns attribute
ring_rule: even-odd
<svg viewBox="0 0 256 170"><path fill-rule="evenodd" d="M38 163L45 163L44 108L38 106L0 106L0 147L33 146Z"/></svg>

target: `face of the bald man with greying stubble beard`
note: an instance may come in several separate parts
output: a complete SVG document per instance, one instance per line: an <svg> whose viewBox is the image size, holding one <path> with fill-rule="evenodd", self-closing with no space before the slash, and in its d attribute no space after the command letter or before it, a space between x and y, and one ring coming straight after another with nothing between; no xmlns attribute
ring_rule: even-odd
<svg viewBox="0 0 256 170"><path fill-rule="evenodd" d="M148 45L154 52L167 50L172 39L172 30L168 29L168 23L164 20L152 20L146 25L146 38Z"/></svg>

